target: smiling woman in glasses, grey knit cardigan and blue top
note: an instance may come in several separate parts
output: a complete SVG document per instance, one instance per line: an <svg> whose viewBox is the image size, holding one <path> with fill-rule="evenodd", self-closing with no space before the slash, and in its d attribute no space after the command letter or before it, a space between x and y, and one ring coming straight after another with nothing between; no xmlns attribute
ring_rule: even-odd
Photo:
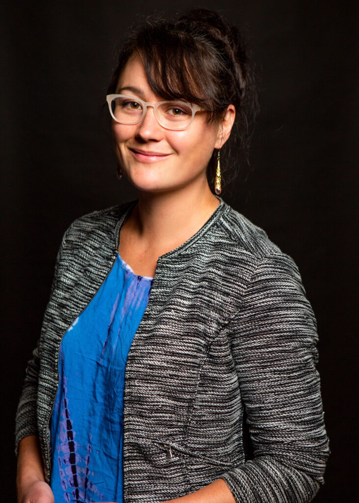
<svg viewBox="0 0 359 503"><path fill-rule="evenodd" d="M17 414L21 503L304 503L323 482L298 269L218 196L249 88L238 31L210 11L122 48L107 101L138 199L64 234Z"/></svg>

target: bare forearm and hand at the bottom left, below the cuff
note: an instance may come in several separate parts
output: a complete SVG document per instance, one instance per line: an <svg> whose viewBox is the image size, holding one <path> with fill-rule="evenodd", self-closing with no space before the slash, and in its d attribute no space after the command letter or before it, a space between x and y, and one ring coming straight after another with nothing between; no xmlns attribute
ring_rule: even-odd
<svg viewBox="0 0 359 503"><path fill-rule="evenodd" d="M18 447L18 503L54 503L50 486L45 482L36 435L23 438Z"/></svg>

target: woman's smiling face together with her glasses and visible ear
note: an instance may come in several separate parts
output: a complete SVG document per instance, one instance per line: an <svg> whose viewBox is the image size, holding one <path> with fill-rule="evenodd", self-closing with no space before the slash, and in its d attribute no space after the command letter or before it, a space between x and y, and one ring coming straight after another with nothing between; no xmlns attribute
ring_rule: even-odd
<svg viewBox="0 0 359 503"><path fill-rule="evenodd" d="M120 94L129 90L133 97ZM228 105L219 124L209 122L207 111L198 105L163 102L151 89L138 52L130 56L119 75L116 93L109 98L115 119L114 145L131 184L139 191L158 194L168 190L200 192L217 206L206 183L206 170L214 149L229 137L234 106Z"/></svg>

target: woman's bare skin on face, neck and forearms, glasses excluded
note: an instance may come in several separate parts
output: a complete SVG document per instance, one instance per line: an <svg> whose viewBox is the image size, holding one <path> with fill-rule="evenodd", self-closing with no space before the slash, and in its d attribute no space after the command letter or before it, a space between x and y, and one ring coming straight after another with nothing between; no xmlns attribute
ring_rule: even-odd
<svg viewBox="0 0 359 503"><path fill-rule="evenodd" d="M140 92L129 92L124 87L135 87ZM151 90L137 54L131 56L120 75L116 93L146 102L163 101ZM122 259L135 274L153 277L158 257L194 235L218 206L206 169L214 149L227 141L234 117L234 106L229 105L221 123L209 124L202 111L188 129L170 131L158 124L149 107L139 124L113 122L115 153L123 175L138 192L138 204L121 229L119 247ZM139 150L168 155L144 156ZM17 489L18 503L54 503L44 479L36 436L25 437L19 443ZM235 499L225 481L218 479L171 501L234 503Z"/></svg>

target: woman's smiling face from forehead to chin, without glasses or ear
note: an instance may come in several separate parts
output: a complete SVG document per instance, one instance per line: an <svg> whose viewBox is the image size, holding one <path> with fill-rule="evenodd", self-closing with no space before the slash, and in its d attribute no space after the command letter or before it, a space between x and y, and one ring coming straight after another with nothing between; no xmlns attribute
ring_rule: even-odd
<svg viewBox="0 0 359 503"><path fill-rule="evenodd" d="M125 89L128 87L138 91ZM151 103L163 101L150 88L138 54L128 60L116 94ZM141 191L163 192L196 181L203 183L213 149L220 147L221 125L208 124L206 112L200 111L187 129L172 131L158 124L149 107L138 124L113 121L113 136L116 155L131 184Z"/></svg>

